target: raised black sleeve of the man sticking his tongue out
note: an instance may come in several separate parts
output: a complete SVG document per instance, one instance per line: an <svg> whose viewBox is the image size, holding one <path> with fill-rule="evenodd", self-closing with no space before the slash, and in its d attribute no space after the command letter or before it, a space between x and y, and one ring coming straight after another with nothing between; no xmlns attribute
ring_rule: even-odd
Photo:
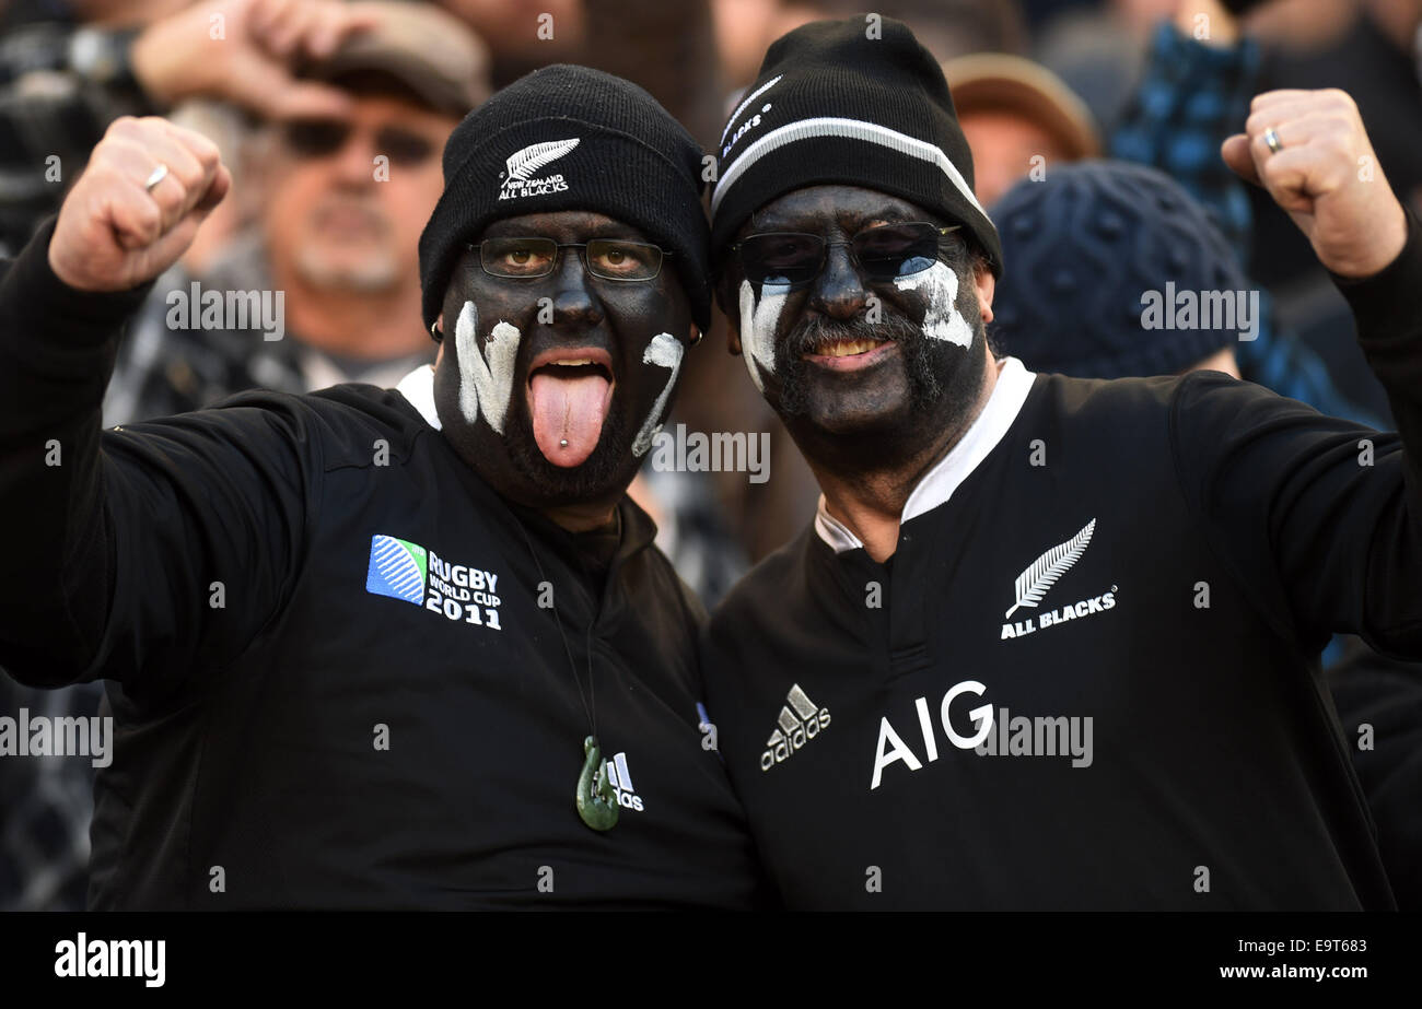
<svg viewBox="0 0 1422 1009"><path fill-rule="evenodd" d="M319 439L293 396L102 432L117 340L146 290L68 288L51 233L0 280L0 664L36 686L104 676L166 694L279 610Z"/></svg>

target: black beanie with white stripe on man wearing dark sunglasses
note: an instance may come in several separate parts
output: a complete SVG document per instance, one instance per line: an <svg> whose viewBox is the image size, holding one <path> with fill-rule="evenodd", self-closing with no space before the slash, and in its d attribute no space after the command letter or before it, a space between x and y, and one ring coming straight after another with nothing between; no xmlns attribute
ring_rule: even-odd
<svg viewBox="0 0 1422 1009"><path fill-rule="evenodd" d="M812 21L778 38L725 124L717 158L717 260L771 200L843 183L966 225L1001 276L997 229L973 195L973 155L943 70L900 21Z"/></svg>

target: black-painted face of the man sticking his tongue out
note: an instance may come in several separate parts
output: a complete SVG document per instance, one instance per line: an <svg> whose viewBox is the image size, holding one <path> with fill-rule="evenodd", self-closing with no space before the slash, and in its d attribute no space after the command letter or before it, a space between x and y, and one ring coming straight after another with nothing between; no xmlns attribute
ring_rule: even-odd
<svg viewBox="0 0 1422 1009"><path fill-rule="evenodd" d="M626 225L583 212L503 219L472 240L483 237L647 242ZM451 338L451 320L465 303L474 304L468 315L478 321L464 338ZM675 369L664 364L665 341L680 350L691 330L671 261L653 280L617 281L590 276L582 250L562 249L550 274L513 279L486 273L471 250L452 274L444 318L435 405L445 438L465 462L498 493L529 507L616 502L641 463L633 452L638 431L658 401L658 412L670 409ZM660 334L670 334L661 352L644 361ZM509 340L518 351L512 377L501 387L496 354ZM469 354L488 354L488 375L472 361L461 362ZM479 382L471 375L496 392L508 389L502 423L492 422L498 418L483 404L474 408Z"/></svg>

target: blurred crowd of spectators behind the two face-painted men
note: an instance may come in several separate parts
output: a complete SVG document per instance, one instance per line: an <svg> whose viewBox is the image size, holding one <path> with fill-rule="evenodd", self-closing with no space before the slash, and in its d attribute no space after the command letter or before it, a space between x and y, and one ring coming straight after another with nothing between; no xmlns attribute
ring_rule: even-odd
<svg viewBox="0 0 1422 1009"><path fill-rule="evenodd" d="M530 70L580 63L643 85L714 151L776 37L863 7L0 0L0 254L14 254L57 210L114 118L165 115L219 144L235 186L131 327L105 423L253 387L394 385L434 358L419 321L417 243L441 193L444 141L465 112ZM1384 172L1422 213L1422 0L884 0L873 9L906 21L943 61L977 196L1003 237L1005 274L988 328L1001 354L1035 371L1099 378L1217 368L1322 412L1392 426L1341 296L1287 216L1234 178L1219 148L1258 92L1342 88L1378 155L1359 172ZM311 23L328 26L316 51L293 44ZM1142 291L1167 283L1258 291L1249 335L1142 328ZM203 324L202 291L280 291L279 338L259 318ZM688 355L671 423L772 432L772 479L648 468L633 490L708 604L798 533L818 496L724 348L718 328ZM1352 642L1332 649L1345 665L1374 662ZM97 696L97 686L21 692L0 675L3 711L92 713ZM1405 723L1422 725L1422 701L1409 703ZM27 763L37 780L0 775L0 908L81 907L87 784L73 769ZM1404 883L1422 888L1422 878Z"/></svg>

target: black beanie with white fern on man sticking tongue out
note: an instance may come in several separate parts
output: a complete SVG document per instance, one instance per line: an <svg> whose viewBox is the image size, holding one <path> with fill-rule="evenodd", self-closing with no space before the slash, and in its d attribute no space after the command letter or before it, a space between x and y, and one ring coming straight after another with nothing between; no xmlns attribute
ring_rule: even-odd
<svg viewBox="0 0 1422 1009"><path fill-rule="evenodd" d="M711 325L701 148L657 99L587 67L535 70L464 118L444 151L445 189L419 236L425 328L449 274L501 217L589 210L631 225L664 249L691 317Z"/></svg>

